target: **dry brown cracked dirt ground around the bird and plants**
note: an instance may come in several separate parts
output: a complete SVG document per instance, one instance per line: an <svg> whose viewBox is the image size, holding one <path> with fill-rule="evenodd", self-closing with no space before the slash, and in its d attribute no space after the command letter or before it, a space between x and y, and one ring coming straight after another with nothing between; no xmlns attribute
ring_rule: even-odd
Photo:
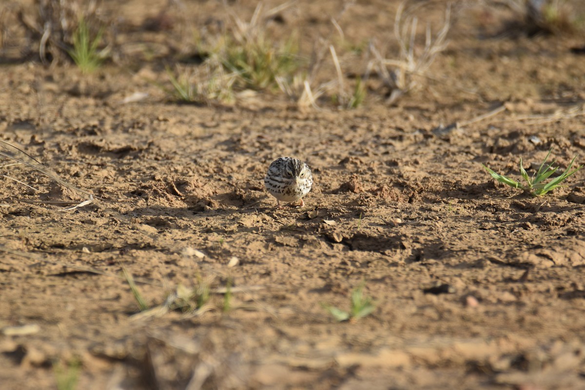
<svg viewBox="0 0 585 390"><path fill-rule="evenodd" d="M128 47L170 47L176 30L142 28L166 1L115 3ZM230 6L246 19L253 3ZM360 2L339 25L391 47L397 5ZM187 7L195 25L225 12ZM585 39L526 36L504 8L457 12L426 88L388 105L372 82L357 109L277 92L177 104L152 82L162 61L83 76L6 37L2 139L116 202L64 210L87 196L2 161L39 191L0 178L0 387L57 388L80 364L78 389L585 388L585 174L532 198L481 167L519 178L519 157L551 147L562 169L585 163L585 57L571 50ZM338 13L302 0L275 28L308 50ZM149 95L123 103L135 92ZM312 169L303 208L276 209L264 189L280 156ZM336 322L323 305L348 309L362 282L376 309ZM208 285L204 310L160 309L179 285Z"/></svg>

